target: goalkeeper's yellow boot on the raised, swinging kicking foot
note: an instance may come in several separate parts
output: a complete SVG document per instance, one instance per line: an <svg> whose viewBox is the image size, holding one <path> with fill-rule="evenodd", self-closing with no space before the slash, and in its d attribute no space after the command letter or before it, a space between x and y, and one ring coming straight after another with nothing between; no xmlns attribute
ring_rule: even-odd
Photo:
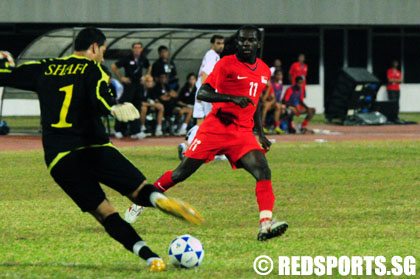
<svg viewBox="0 0 420 279"><path fill-rule="evenodd" d="M152 202L156 208L192 224L198 225L203 223L200 213L188 203L167 197L161 193L157 193L157 195Z"/></svg>

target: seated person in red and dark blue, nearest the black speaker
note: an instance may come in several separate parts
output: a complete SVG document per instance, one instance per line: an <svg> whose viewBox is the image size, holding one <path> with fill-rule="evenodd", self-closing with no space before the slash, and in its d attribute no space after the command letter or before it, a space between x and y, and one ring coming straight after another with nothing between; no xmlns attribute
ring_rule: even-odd
<svg viewBox="0 0 420 279"><path fill-rule="evenodd" d="M296 133L296 128L293 123L293 116L299 116L301 114L306 114L305 120L299 125L299 130L302 134L310 132L306 127L308 126L309 121L315 115L315 108L308 107L304 102L304 79L302 76L297 76L295 78L295 84L287 88L286 93L284 94L283 103L288 109L292 112L292 118L289 122L289 132Z"/></svg>

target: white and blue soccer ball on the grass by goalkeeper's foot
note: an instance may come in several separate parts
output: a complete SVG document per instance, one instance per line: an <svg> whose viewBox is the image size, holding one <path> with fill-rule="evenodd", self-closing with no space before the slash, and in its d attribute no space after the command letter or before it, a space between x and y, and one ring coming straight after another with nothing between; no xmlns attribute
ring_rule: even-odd
<svg viewBox="0 0 420 279"><path fill-rule="evenodd" d="M200 240L185 234L175 238L169 246L169 260L176 267L191 268L203 262L204 248Z"/></svg>

